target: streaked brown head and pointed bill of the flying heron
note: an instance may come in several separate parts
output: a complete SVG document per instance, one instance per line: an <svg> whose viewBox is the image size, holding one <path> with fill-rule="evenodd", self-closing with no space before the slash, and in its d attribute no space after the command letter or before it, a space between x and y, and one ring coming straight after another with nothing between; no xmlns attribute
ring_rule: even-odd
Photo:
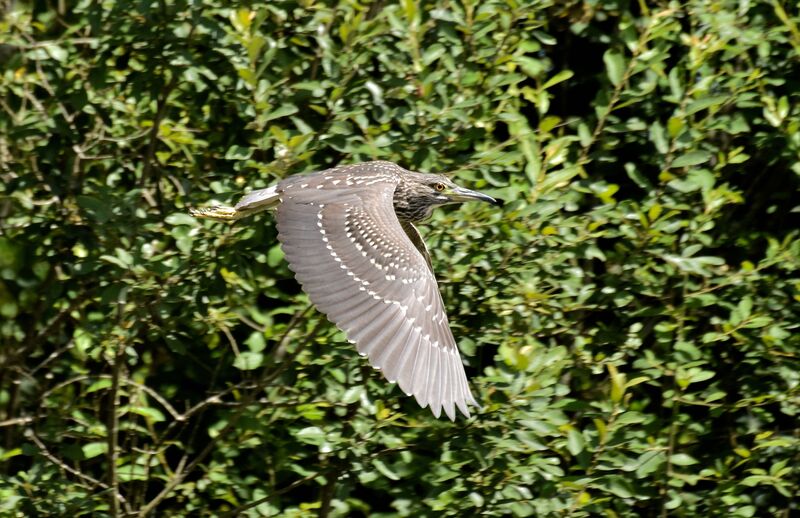
<svg viewBox="0 0 800 518"><path fill-rule="evenodd" d="M503 204L488 194L460 187L440 174L405 174L394 192L397 217L411 222L428 219L436 207L465 201Z"/></svg>

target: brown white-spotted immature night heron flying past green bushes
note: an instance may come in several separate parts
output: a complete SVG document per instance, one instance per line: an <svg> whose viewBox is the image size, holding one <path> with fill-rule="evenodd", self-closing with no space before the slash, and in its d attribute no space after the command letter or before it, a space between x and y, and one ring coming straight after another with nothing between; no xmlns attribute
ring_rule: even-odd
<svg viewBox="0 0 800 518"><path fill-rule="evenodd" d="M455 407L469 417L477 402L414 223L470 200L501 203L442 175L377 161L291 176L235 207L192 214L234 220L277 207L278 239L314 305L389 381L454 420Z"/></svg>

